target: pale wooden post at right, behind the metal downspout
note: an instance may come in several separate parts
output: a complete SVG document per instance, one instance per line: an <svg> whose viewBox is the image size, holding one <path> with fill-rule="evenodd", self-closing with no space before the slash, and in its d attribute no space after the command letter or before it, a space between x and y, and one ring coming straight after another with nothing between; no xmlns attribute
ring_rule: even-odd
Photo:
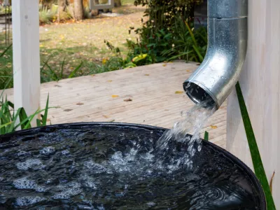
<svg viewBox="0 0 280 210"><path fill-rule="evenodd" d="M248 51L239 79L276 209L280 209L280 1L248 0ZM236 92L228 99L227 149L251 169Z"/></svg>

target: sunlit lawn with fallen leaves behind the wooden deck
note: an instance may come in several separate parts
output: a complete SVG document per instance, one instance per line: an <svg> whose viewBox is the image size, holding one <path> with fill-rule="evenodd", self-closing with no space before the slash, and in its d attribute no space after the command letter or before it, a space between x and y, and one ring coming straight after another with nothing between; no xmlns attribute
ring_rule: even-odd
<svg viewBox="0 0 280 210"><path fill-rule="evenodd" d="M132 1L126 1L126 3L129 2ZM83 65L72 76L83 76L116 69L116 64L113 66L112 62L107 64L107 67L100 66L104 57L114 56L114 52L106 47L104 39L120 48L122 54L126 55L128 51L126 39L135 41L137 38L136 34L129 34L128 30L132 25L134 27L141 26L143 8L138 9L126 4L116 9L127 10L129 15L40 27L40 57L41 67L44 67L41 73L41 82L69 78L81 62ZM5 34L0 34L0 54L7 48L4 40ZM47 60L50 68L44 66ZM2 76L0 77L0 90L13 85L12 80L7 85L7 81L10 79L8 76L13 76L12 64L13 49L10 48L3 57L0 57L0 76Z"/></svg>

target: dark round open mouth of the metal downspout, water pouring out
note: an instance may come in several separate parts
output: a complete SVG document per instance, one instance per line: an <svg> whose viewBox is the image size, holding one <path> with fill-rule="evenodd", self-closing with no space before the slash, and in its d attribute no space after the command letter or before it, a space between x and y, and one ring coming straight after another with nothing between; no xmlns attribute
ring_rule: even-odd
<svg viewBox="0 0 280 210"><path fill-rule="evenodd" d="M214 99L199 85L186 82L183 83L183 88L195 104L202 104L204 108L214 108L216 106Z"/></svg>

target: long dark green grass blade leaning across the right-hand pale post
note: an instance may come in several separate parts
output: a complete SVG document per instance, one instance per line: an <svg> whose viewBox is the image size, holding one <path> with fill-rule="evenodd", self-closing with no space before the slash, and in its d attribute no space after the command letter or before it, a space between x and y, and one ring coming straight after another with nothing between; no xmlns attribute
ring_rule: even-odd
<svg viewBox="0 0 280 210"><path fill-rule="evenodd" d="M272 197L272 193L269 189L269 183L267 181L265 169L262 165L262 159L260 158L260 152L258 150L257 141L255 140L255 134L253 132L253 127L251 125L251 120L248 115L248 111L246 108L246 104L245 104L244 97L241 92L241 87L240 87L239 83L237 83L237 85L236 85L236 90L237 90L237 98L239 101L241 116L243 119L244 128L245 128L246 136L248 139L248 145L250 148L251 157L252 157L252 161L253 161L253 167L255 169L255 176L257 176L258 179L260 180L260 183L262 184L262 188L265 192L265 197L267 200L267 209L269 209L269 210L276 209L274 200Z"/></svg>

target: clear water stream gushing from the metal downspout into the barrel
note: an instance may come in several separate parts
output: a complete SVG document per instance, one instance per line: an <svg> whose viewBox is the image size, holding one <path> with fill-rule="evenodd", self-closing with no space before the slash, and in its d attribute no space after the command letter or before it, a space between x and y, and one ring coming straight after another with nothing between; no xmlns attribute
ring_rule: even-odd
<svg viewBox="0 0 280 210"><path fill-rule="evenodd" d="M179 141L182 146L188 148L188 152L183 157L169 160L169 164L173 165L174 169L178 169L181 165L188 169L193 168L192 158L196 151L201 151L202 148L200 131L216 111L215 107L205 108L207 103L195 104L190 111L182 112L183 120L175 123L174 127L167 130L157 141L156 151L158 156L162 158L168 157L170 151L176 151L174 148L176 144L172 144L172 141ZM190 134L193 136L190 136Z"/></svg>

